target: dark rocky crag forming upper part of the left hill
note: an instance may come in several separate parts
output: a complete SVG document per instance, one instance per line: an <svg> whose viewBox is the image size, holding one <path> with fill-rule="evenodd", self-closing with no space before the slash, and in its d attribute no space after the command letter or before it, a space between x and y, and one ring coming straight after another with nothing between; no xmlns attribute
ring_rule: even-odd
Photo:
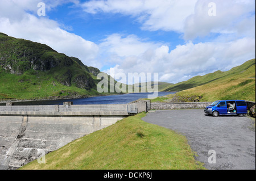
<svg viewBox="0 0 256 181"><path fill-rule="evenodd" d="M23 74L29 69L47 71L73 64L70 57L57 53L47 45L0 35L0 66L12 74Z"/></svg>

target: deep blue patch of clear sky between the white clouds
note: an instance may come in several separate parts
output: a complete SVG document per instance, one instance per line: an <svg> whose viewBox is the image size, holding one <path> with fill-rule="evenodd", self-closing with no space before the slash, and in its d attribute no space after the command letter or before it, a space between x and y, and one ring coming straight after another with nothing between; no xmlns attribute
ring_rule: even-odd
<svg viewBox="0 0 256 181"><path fill-rule="evenodd" d="M86 2L86 1L81 1ZM137 35L145 41L155 41L168 44L183 44L180 34L170 31L143 31L141 23L131 16L112 13L88 14L80 7L73 6L73 3L62 5L48 14L50 19L56 20L71 30L68 32L84 37L86 40L94 43L101 43L107 35L113 33L122 33L124 35Z"/></svg>

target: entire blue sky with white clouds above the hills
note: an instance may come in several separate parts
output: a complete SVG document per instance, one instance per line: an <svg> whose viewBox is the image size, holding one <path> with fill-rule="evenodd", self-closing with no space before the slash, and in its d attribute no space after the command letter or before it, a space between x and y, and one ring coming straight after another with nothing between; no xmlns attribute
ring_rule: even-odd
<svg viewBox="0 0 256 181"><path fill-rule="evenodd" d="M0 0L0 32L177 83L255 58L255 0Z"/></svg>

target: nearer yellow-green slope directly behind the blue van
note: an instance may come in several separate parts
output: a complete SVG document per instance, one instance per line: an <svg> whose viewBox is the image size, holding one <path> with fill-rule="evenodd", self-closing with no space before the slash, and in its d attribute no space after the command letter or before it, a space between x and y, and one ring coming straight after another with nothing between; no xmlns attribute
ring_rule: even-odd
<svg viewBox="0 0 256 181"><path fill-rule="evenodd" d="M220 99L244 99L255 102L255 59L225 72L225 76L177 95L198 95L200 102Z"/></svg>

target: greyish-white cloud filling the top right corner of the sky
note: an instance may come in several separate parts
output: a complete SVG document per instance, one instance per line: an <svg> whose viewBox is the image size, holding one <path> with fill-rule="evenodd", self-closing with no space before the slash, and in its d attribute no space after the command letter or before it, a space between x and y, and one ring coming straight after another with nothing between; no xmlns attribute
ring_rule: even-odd
<svg viewBox="0 0 256 181"><path fill-rule="evenodd" d="M184 38L187 40L204 37L210 32L255 37L255 1L215 0L216 15L209 16L208 7L212 0L198 0L195 14L187 17ZM254 12L254 13L253 13ZM250 28L249 28L250 27ZM254 32L254 33L253 33Z"/></svg>

